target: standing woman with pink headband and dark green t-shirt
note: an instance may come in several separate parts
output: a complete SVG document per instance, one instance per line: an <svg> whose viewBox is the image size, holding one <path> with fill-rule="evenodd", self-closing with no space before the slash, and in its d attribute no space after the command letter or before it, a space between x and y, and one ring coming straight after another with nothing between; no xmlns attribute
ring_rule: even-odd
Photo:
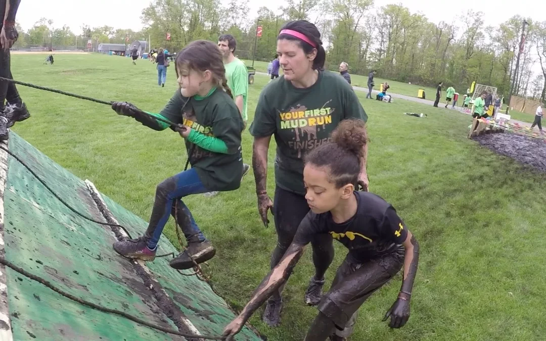
<svg viewBox="0 0 546 341"><path fill-rule="evenodd" d="M267 226L268 210L275 217L277 247L271 267L277 265L294 238L301 219L309 212L305 199L303 157L330 140L330 133L343 119L366 121L366 113L349 83L340 74L324 71L326 53L321 33L306 20L287 23L277 37L277 54L283 76L265 86L258 99L250 133L254 136L252 163L256 177L258 211ZM275 202L266 192L268 149L271 136L277 142L275 159ZM367 189L366 146L358 178ZM321 299L324 273L334 258L331 237L312 241L315 274L305 294L305 302L316 305ZM269 326L280 322L280 290L268 301L263 316Z"/></svg>

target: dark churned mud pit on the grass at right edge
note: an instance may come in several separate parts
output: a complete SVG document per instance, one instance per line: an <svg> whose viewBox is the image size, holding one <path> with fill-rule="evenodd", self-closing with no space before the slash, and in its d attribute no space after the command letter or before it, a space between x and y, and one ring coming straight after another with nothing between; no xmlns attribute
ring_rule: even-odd
<svg viewBox="0 0 546 341"><path fill-rule="evenodd" d="M546 142L512 133L474 137L480 145L546 173Z"/></svg>

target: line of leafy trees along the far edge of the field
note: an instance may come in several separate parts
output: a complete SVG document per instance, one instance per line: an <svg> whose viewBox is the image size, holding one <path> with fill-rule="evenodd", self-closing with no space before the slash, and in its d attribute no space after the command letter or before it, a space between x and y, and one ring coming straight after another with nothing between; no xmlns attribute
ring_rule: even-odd
<svg viewBox="0 0 546 341"><path fill-rule="evenodd" d="M255 50L257 60L270 61L282 25L306 19L323 35L326 67L331 70L344 61L353 74L367 75L375 69L377 76L391 80L423 86L443 81L457 89L466 89L476 81L495 86L505 95L515 80L514 94L544 100L546 21L526 19L530 25L515 70L524 20L519 15L492 27L485 26L485 14L479 11L461 13L452 23L433 23L401 4L374 7L373 0L288 0L279 9L280 14L262 7L257 17L249 17L248 1L231 0L223 6L221 0L155 0L142 11L142 31L86 26L80 39L82 45L87 41L84 39L123 44L129 33L130 41L151 37L152 47L176 51L192 40L216 41L220 34L230 33L238 41L235 54L240 58L252 59ZM256 39L258 20L262 36ZM68 27L52 29L51 23L42 19L23 33L18 43L45 43L44 34L48 33L53 45L76 40ZM166 33L170 33L170 41L165 41ZM539 75L532 72L535 63L541 65Z"/></svg>

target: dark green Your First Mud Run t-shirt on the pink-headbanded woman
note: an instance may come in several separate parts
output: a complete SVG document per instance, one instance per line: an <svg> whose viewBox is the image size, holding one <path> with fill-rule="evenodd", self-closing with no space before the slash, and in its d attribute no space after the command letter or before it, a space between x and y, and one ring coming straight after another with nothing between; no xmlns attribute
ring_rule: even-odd
<svg viewBox="0 0 546 341"><path fill-rule="evenodd" d="M281 76L260 93L250 133L275 135L275 183L305 195L303 157L328 142L337 124L347 118L367 121L353 88L339 74L321 71L308 88L296 88Z"/></svg>

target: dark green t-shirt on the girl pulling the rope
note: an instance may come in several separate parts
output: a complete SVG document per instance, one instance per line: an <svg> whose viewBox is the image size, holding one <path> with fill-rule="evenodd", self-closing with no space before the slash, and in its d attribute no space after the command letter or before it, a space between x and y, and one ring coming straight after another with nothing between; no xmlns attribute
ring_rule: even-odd
<svg viewBox="0 0 546 341"><path fill-rule="evenodd" d="M184 124L201 134L215 136L225 142L228 153L207 151L186 140L189 163L208 190L234 190L241 186L243 128L239 109L221 89L213 89L207 97L194 96L182 109L187 98L178 89L161 115L177 124Z"/></svg>

